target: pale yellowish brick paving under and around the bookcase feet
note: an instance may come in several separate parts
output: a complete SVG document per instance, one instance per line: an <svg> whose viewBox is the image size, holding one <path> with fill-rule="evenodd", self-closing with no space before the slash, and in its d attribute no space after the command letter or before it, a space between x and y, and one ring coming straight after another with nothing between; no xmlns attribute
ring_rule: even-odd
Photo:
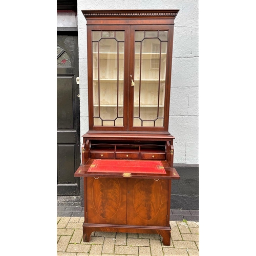
<svg viewBox="0 0 256 256"><path fill-rule="evenodd" d="M83 217L57 217L57 256L196 256L199 255L199 222L170 221L172 239L164 246L158 234L93 232L82 241Z"/></svg>

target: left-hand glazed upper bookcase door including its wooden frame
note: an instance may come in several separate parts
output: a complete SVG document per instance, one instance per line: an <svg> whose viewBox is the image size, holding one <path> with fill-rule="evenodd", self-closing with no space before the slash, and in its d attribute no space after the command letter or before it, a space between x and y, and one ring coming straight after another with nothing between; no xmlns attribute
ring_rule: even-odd
<svg viewBox="0 0 256 256"><path fill-rule="evenodd" d="M127 130L129 26L88 27L90 130Z"/></svg>

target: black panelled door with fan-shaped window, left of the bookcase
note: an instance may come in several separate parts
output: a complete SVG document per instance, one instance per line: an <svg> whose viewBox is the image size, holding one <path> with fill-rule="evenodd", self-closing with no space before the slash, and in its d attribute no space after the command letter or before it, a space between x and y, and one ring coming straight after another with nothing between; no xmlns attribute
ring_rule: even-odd
<svg viewBox="0 0 256 256"><path fill-rule="evenodd" d="M77 33L57 34L57 195L80 195L80 111Z"/></svg>

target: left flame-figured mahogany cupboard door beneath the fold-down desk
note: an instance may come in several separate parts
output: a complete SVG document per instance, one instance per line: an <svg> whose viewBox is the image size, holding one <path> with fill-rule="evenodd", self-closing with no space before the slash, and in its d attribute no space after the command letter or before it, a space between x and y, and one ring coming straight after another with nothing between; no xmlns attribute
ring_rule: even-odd
<svg viewBox="0 0 256 256"><path fill-rule="evenodd" d="M126 179L87 178L87 223L126 224Z"/></svg>

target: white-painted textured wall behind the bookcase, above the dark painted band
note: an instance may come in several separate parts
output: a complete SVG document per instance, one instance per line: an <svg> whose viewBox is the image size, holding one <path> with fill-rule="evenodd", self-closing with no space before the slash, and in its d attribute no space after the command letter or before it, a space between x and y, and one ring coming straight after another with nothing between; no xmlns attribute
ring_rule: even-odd
<svg viewBox="0 0 256 256"><path fill-rule="evenodd" d="M88 131L87 34L81 10L179 9L175 18L169 132L174 162L199 163L199 24L197 0L77 0L81 135Z"/></svg>

